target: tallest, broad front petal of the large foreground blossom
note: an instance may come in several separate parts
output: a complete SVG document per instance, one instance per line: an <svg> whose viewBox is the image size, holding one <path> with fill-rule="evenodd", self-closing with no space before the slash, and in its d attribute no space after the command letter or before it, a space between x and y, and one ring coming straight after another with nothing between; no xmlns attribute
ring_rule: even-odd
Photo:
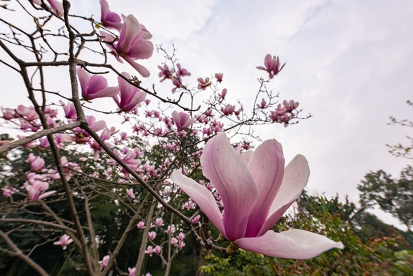
<svg viewBox="0 0 413 276"><path fill-rule="evenodd" d="M244 237L257 186L224 132L211 138L201 156L202 172L224 204L224 227L229 240Z"/></svg>

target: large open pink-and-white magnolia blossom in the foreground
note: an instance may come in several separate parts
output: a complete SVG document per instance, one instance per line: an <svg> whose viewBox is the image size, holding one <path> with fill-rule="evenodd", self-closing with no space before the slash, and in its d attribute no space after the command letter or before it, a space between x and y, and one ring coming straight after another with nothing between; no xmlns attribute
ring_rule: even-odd
<svg viewBox="0 0 413 276"><path fill-rule="evenodd" d="M307 184L310 170L297 155L284 168L282 146L266 140L255 151L236 151L224 133L211 138L201 156L202 172L220 194L221 212L212 193L173 171L171 180L195 201L227 239L240 248L273 257L308 259L341 242L299 229L270 230Z"/></svg>

